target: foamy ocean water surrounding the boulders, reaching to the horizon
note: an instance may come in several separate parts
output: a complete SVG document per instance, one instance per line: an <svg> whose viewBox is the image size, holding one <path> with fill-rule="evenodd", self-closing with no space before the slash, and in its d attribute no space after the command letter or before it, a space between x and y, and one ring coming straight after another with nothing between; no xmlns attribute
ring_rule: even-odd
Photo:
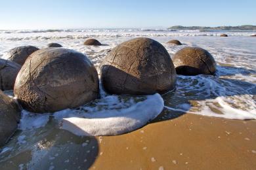
<svg viewBox="0 0 256 170"><path fill-rule="evenodd" d="M221 33L229 37L219 37ZM98 152L95 135L127 133L149 121L170 120L182 114L256 119L256 38L249 37L253 34L256 33L143 29L0 31L0 58L6 58L7 52L16 46L30 44L44 48L50 42L58 42L64 48L86 54L98 73L109 50L135 37L155 39L165 46L171 57L186 46L200 46L217 62L216 75L177 75L176 89L163 95L109 95L101 88L100 99L78 109L40 115L22 110L18 131L0 149L0 166L4 169L69 169L74 168L69 163L72 162L77 168L87 168ZM86 38L96 38L104 46L84 46ZM171 39L178 39L182 45L167 44ZM12 92L6 93L12 95Z"/></svg>

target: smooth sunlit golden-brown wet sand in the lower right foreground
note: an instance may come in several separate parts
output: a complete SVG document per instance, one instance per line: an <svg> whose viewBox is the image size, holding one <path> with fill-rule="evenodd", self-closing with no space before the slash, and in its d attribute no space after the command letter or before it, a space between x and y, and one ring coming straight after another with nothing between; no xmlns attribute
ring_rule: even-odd
<svg viewBox="0 0 256 170"><path fill-rule="evenodd" d="M256 169L256 121L183 114L97 137L90 169Z"/></svg>

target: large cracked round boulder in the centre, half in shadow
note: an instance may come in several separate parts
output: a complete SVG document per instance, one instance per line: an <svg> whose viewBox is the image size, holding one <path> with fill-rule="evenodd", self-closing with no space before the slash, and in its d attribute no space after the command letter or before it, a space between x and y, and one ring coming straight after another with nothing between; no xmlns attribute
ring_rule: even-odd
<svg viewBox="0 0 256 170"><path fill-rule="evenodd" d="M148 95L175 88L176 71L157 41L137 38L113 48L102 62L101 80L109 93Z"/></svg>

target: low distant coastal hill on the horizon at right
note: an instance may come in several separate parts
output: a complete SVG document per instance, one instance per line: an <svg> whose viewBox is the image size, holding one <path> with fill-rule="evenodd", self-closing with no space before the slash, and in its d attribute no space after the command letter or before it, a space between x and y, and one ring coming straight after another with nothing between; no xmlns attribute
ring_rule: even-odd
<svg viewBox="0 0 256 170"><path fill-rule="evenodd" d="M256 25L240 25L240 26L219 26L219 27L200 27L200 26L190 26L184 27L181 25L175 25L168 27L167 29L176 30L244 30L244 31L256 31Z"/></svg>

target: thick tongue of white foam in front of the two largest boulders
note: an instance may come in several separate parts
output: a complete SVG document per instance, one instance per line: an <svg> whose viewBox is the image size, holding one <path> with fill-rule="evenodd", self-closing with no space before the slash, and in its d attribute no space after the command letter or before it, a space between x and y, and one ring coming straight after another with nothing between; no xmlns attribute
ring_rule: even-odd
<svg viewBox="0 0 256 170"><path fill-rule="evenodd" d="M112 96L106 98L106 103L113 102L115 103ZM119 135L144 126L149 120L156 118L161 110L163 99L156 93L125 109L100 110L77 116L64 111L66 113L58 112L62 116L56 114L55 118L60 120L60 128L75 135ZM66 117L63 117L63 114L66 114Z"/></svg>

